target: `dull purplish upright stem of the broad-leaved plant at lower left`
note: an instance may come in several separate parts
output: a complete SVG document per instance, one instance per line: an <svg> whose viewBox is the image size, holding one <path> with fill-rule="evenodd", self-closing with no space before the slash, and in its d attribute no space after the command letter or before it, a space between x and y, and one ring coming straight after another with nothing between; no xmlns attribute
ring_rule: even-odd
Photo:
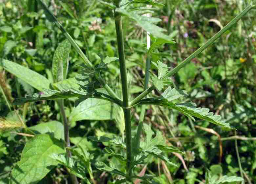
<svg viewBox="0 0 256 184"><path fill-rule="evenodd" d="M64 100L58 100L57 101L59 108L60 108L60 113L64 125L64 138L65 138L65 146L67 148L70 148L70 140L69 140L69 124L68 124L68 119L66 116L66 113L64 111ZM72 157L71 151L69 149L66 149L66 155L67 157ZM78 184L77 178L74 174L70 174L70 179L73 184Z"/></svg>

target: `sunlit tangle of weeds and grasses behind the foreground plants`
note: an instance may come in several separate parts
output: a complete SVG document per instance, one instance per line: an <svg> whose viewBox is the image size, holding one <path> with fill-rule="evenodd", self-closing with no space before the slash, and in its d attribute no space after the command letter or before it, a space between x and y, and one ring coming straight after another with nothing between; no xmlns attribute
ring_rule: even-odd
<svg viewBox="0 0 256 184"><path fill-rule="evenodd" d="M1 58L38 72L53 82L51 70L54 51L65 37L46 19L44 11L35 2L4 0L0 3L0 54ZM100 64L100 57L118 57L113 12L105 4L97 0L45 2L94 65ZM249 1L160 0L160 3L164 6L154 6L153 16L162 19L158 26L166 29L176 44L161 46L152 53L152 61L157 62L161 56L168 67L174 67L217 33ZM128 18L123 22L129 89L133 96L137 96L143 91L146 32ZM173 78L179 89L189 92L187 101L220 114L238 131L226 132L206 121L197 120L194 123L175 110L147 106L144 123L155 132L161 131L168 143L180 148L185 155L168 154L178 168L149 157L147 165L136 168L136 174L156 174L155 179L162 184L196 184L205 182L208 168L217 176L240 176L242 172L245 183L256 183L255 25L255 10L252 10ZM72 78L81 70L79 65L82 64L74 48L71 48L69 62L67 78ZM156 67L151 67L154 72ZM120 93L118 63L111 63L108 68L108 71L101 73L102 77ZM26 72L20 70L20 75L26 75ZM9 125L10 122L20 122L16 115L18 113L31 130L51 132L63 138L63 125L59 123L62 122L61 114L55 101L8 107L7 102L12 102L14 98L40 91L4 68L0 72L0 85L5 94L1 93L0 99L0 115L5 118L1 119L0 128L9 128L4 127L6 121L9 121ZM154 95L159 93L155 90ZM96 143L88 137L124 137L124 118L120 108L99 100L87 101L77 107L74 107L74 101L69 100L64 105L71 125L71 146L77 149L82 147L106 163L110 160L117 163L116 158L102 153L107 143ZM132 110L133 133L139 121L140 107L136 108L136 111ZM20 129L0 134L0 183L8 183L11 169L20 160L28 139ZM240 162L242 169L239 168ZM120 169L125 170L124 167ZM117 179L117 175L98 171L92 165L88 178L94 183L110 184ZM67 171L59 165L40 183L61 184L66 181ZM136 182L139 183L139 180Z"/></svg>

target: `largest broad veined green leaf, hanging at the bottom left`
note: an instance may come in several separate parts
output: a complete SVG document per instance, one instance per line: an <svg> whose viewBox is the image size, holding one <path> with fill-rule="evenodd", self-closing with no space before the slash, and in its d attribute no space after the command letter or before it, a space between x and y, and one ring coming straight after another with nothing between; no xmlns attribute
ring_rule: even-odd
<svg viewBox="0 0 256 184"><path fill-rule="evenodd" d="M50 158L53 153L65 153L64 142L48 134L36 135L30 139L21 153L21 160L11 171L10 184L39 182L57 165Z"/></svg>

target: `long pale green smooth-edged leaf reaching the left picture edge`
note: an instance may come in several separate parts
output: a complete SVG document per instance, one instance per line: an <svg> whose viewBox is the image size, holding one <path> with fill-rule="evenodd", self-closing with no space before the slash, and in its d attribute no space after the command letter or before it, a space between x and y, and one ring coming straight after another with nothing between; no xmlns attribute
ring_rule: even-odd
<svg viewBox="0 0 256 184"><path fill-rule="evenodd" d="M43 89L49 89L51 81L45 78L43 75L40 75L37 72L34 72L26 67L23 67L17 63L11 62L9 60L0 58L0 65L12 73L16 77L25 81L35 89L43 91ZM21 72L22 71L22 72Z"/></svg>

